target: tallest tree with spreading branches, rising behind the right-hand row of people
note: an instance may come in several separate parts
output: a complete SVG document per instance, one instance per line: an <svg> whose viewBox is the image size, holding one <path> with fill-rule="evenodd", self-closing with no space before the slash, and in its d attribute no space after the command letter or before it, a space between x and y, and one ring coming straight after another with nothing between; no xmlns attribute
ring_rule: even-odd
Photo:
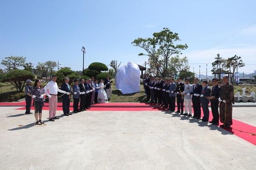
<svg viewBox="0 0 256 170"><path fill-rule="evenodd" d="M153 34L153 38L143 39L138 38L131 42L134 46L143 48L147 54L140 53L141 55L146 55L149 57L149 63L157 65L157 72L162 76L168 74L168 63L170 62L170 57L173 54L182 54L181 50L185 50L188 46L185 45L175 45L179 39L177 33L173 33L169 28L163 28L162 31ZM150 65L151 66L151 65Z"/></svg>

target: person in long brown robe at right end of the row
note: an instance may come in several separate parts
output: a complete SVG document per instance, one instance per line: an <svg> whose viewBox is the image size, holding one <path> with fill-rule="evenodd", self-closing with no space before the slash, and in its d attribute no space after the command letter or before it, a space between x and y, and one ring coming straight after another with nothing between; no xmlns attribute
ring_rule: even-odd
<svg viewBox="0 0 256 170"><path fill-rule="evenodd" d="M234 104L234 87L227 76L223 76L223 85L220 89L220 120L224 127L230 128L232 122L232 104Z"/></svg>

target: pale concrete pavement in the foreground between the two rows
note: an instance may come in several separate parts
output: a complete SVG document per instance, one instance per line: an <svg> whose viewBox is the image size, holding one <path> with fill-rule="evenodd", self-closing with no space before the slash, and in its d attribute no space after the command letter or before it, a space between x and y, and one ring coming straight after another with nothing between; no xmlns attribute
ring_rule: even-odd
<svg viewBox="0 0 256 170"><path fill-rule="evenodd" d="M1 170L254 170L256 146L168 111L85 111L35 127L33 114L0 107ZM255 107L233 119L256 126ZM26 125L26 126L18 126ZM256 132L253 132L256 133ZM249 135L249 134L248 134ZM256 136L255 136L256 140Z"/></svg>

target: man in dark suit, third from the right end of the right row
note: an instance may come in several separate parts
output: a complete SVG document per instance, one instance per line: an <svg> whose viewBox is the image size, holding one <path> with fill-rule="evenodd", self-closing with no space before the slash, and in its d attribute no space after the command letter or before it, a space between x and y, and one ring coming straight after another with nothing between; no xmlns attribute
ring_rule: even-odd
<svg viewBox="0 0 256 170"><path fill-rule="evenodd" d="M204 80L202 82L202 86L203 89L201 91L201 95L200 95L200 102L201 102L201 106L203 108L203 113L204 116L202 119L200 119L203 122L208 122L209 120L209 96L211 95L211 89L209 88L209 86L207 85L207 80Z"/></svg>

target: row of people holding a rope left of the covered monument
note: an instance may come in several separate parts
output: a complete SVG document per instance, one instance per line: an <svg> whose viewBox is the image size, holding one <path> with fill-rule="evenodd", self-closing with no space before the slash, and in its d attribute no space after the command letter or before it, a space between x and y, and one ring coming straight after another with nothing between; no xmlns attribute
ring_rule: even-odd
<svg viewBox="0 0 256 170"><path fill-rule="evenodd" d="M69 78L65 78L65 82L61 85L61 89L58 88L56 83L57 76L52 75L52 81L48 82L47 85L42 88L41 80L36 79L35 84L32 87L32 81L26 80L27 85L25 86L25 100L26 100L26 114L32 114L30 112L32 98L35 107L35 119L37 125L42 125L42 108L45 101L45 96L49 98L49 121L54 122L56 119L59 119L56 116L57 110L57 95L58 92L62 93L62 110L64 116L70 116L70 99L73 95L73 113L78 113L81 111L86 111L93 107L92 105L97 103L108 103L111 99L111 82L109 80L109 75L106 76L106 79L103 82L103 79L98 80L94 77L91 79L76 79L73 87L69 84ZM48 91L49 92L48 92ZM79 105L80 103L80 105Z"/></svg>

